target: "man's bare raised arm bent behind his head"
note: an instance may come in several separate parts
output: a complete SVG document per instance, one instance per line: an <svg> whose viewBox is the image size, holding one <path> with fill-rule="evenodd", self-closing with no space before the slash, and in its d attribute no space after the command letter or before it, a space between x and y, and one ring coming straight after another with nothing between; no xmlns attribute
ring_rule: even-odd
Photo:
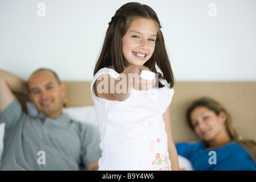
<svg viewBox="0 0 256 182"><path fill-rule="evenodd" d="M26 82L9 72L0 70L0 112L13 102L13 92L28 94Z"/></svg>

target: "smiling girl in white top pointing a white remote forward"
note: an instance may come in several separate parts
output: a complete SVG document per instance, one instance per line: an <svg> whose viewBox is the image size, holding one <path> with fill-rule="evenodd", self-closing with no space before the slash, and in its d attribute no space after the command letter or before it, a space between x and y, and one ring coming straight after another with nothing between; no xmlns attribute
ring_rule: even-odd
<svg viewBox="0 0 256 182"><path fill-rule="evenodd" d="M174 77L160 28L155 11L135 2L121 6L109 22L91 83L99 170L178 169L169 118ZM157 77L141 79L142 70Z"/></svg>

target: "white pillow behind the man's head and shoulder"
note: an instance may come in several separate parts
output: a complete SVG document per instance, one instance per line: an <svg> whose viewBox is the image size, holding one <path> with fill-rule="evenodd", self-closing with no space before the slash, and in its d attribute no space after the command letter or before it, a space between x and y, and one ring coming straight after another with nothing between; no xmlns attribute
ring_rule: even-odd
<svg viewBox="0 0 256 182"><path fill-rule="evenodd" d="M26 102L26 106L27 113L30 116L36 117L38 115L38 111L32 102ZM93 105L63 108L63 113L67 113L70 118L76 121L90 123L91 125L97 126L96 113Z"/></svg>

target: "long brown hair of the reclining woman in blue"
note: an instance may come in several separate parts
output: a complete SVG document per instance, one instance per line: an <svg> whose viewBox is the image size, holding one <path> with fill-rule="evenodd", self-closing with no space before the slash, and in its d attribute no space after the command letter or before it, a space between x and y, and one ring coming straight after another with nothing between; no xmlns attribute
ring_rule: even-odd
<svg viewBox="0 0 256 182"><path fill-rule="evenodd" d="M209 98L209 97L202 97L202 98L199 98L198 100L192 102L192 104L188 107L188 110L186 112L186 120L191 129L194 130L194 127L192 125L192 121L190 118L190 114L197 107L206 107L209 110L214 111L214 113L216 115L219 115L223 111L226 114L225 128L226 128L227 134L230 137L230 140L239 143L243 148L245 148L245 150L248 152L248 154L251 156L251 158L256 163L256 143L255 143L255 141L249 140L249 139L239 139L239 135L237 134L237 131L235 131L235 129L233 127L233 121L232 121L230 113L225 109L224 106L222 106L216 100L213 100L212 98ZM204 143L207 144L207 142L205 142L205 141L204 141Z"/></svg>

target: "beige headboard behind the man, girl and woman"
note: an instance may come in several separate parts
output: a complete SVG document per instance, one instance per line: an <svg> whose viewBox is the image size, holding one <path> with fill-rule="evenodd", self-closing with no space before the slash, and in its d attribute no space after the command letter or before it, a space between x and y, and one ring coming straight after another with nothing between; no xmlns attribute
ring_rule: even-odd
<svg viewBox="0 0 256 182"><path fill-rule="evenodd" d="M70 107L94 105L90 82L64 81ZM256 82L176 82L170 104L170 119L174 142L197 140L186 125L186 108L194 99L210 96L230 112L238 134L256 140ZM18 96L25 108L25 99Z"/></svg>

